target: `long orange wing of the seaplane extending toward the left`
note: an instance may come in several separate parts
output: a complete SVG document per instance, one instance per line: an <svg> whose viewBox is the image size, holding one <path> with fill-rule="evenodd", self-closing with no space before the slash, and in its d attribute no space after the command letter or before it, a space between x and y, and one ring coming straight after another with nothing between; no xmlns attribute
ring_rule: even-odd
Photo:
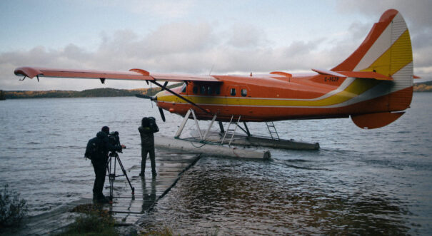
<svg viewBox="0 0 432 236"><path fill-rule="evenodd" d="M131 69L129 71L93 71L93 70L73 70L59 68L39 68L39 67L20 67L14 71L16 76L26 76L29 78L54 77L54 78L97 78L104 83L105 79L131 80L131 81L200 81L222 83L213 76L194 76L182 74L163 74L149 73L141 69Z"/></svg>

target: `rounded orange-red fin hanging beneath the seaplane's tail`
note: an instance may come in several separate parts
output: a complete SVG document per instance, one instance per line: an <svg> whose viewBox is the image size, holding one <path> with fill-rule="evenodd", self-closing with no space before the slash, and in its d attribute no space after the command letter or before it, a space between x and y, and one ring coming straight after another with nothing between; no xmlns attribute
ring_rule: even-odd
<svg viewBox="0 0 432 236"><path fill-rule="evenodd" d="M364 128L364 129L381 128L397 120L399 117L403 115L403 113L405 112L371 113L371 114L364 114L364 115L354 115L351 116L351 119L360 128Z"/></svg>

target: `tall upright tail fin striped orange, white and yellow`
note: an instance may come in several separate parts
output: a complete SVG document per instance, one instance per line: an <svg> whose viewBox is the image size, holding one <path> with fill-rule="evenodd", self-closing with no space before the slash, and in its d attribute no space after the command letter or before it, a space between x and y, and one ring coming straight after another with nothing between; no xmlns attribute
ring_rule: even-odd
<svg viewBox="0 0 432 236"><path fill-rule="evenodd" d="M365 71L388 76L393 80L386 83L385 89L376 96L388 96L388 112L408 108L413 96L413 51L408 27L402 15L395 9L384 12L356 51L331 71ZM396 116L386 117L386 120L391 120L390 117ZM372 117L361 120L367 118ZM393 120L389 123L391 122Z"/></svg>

